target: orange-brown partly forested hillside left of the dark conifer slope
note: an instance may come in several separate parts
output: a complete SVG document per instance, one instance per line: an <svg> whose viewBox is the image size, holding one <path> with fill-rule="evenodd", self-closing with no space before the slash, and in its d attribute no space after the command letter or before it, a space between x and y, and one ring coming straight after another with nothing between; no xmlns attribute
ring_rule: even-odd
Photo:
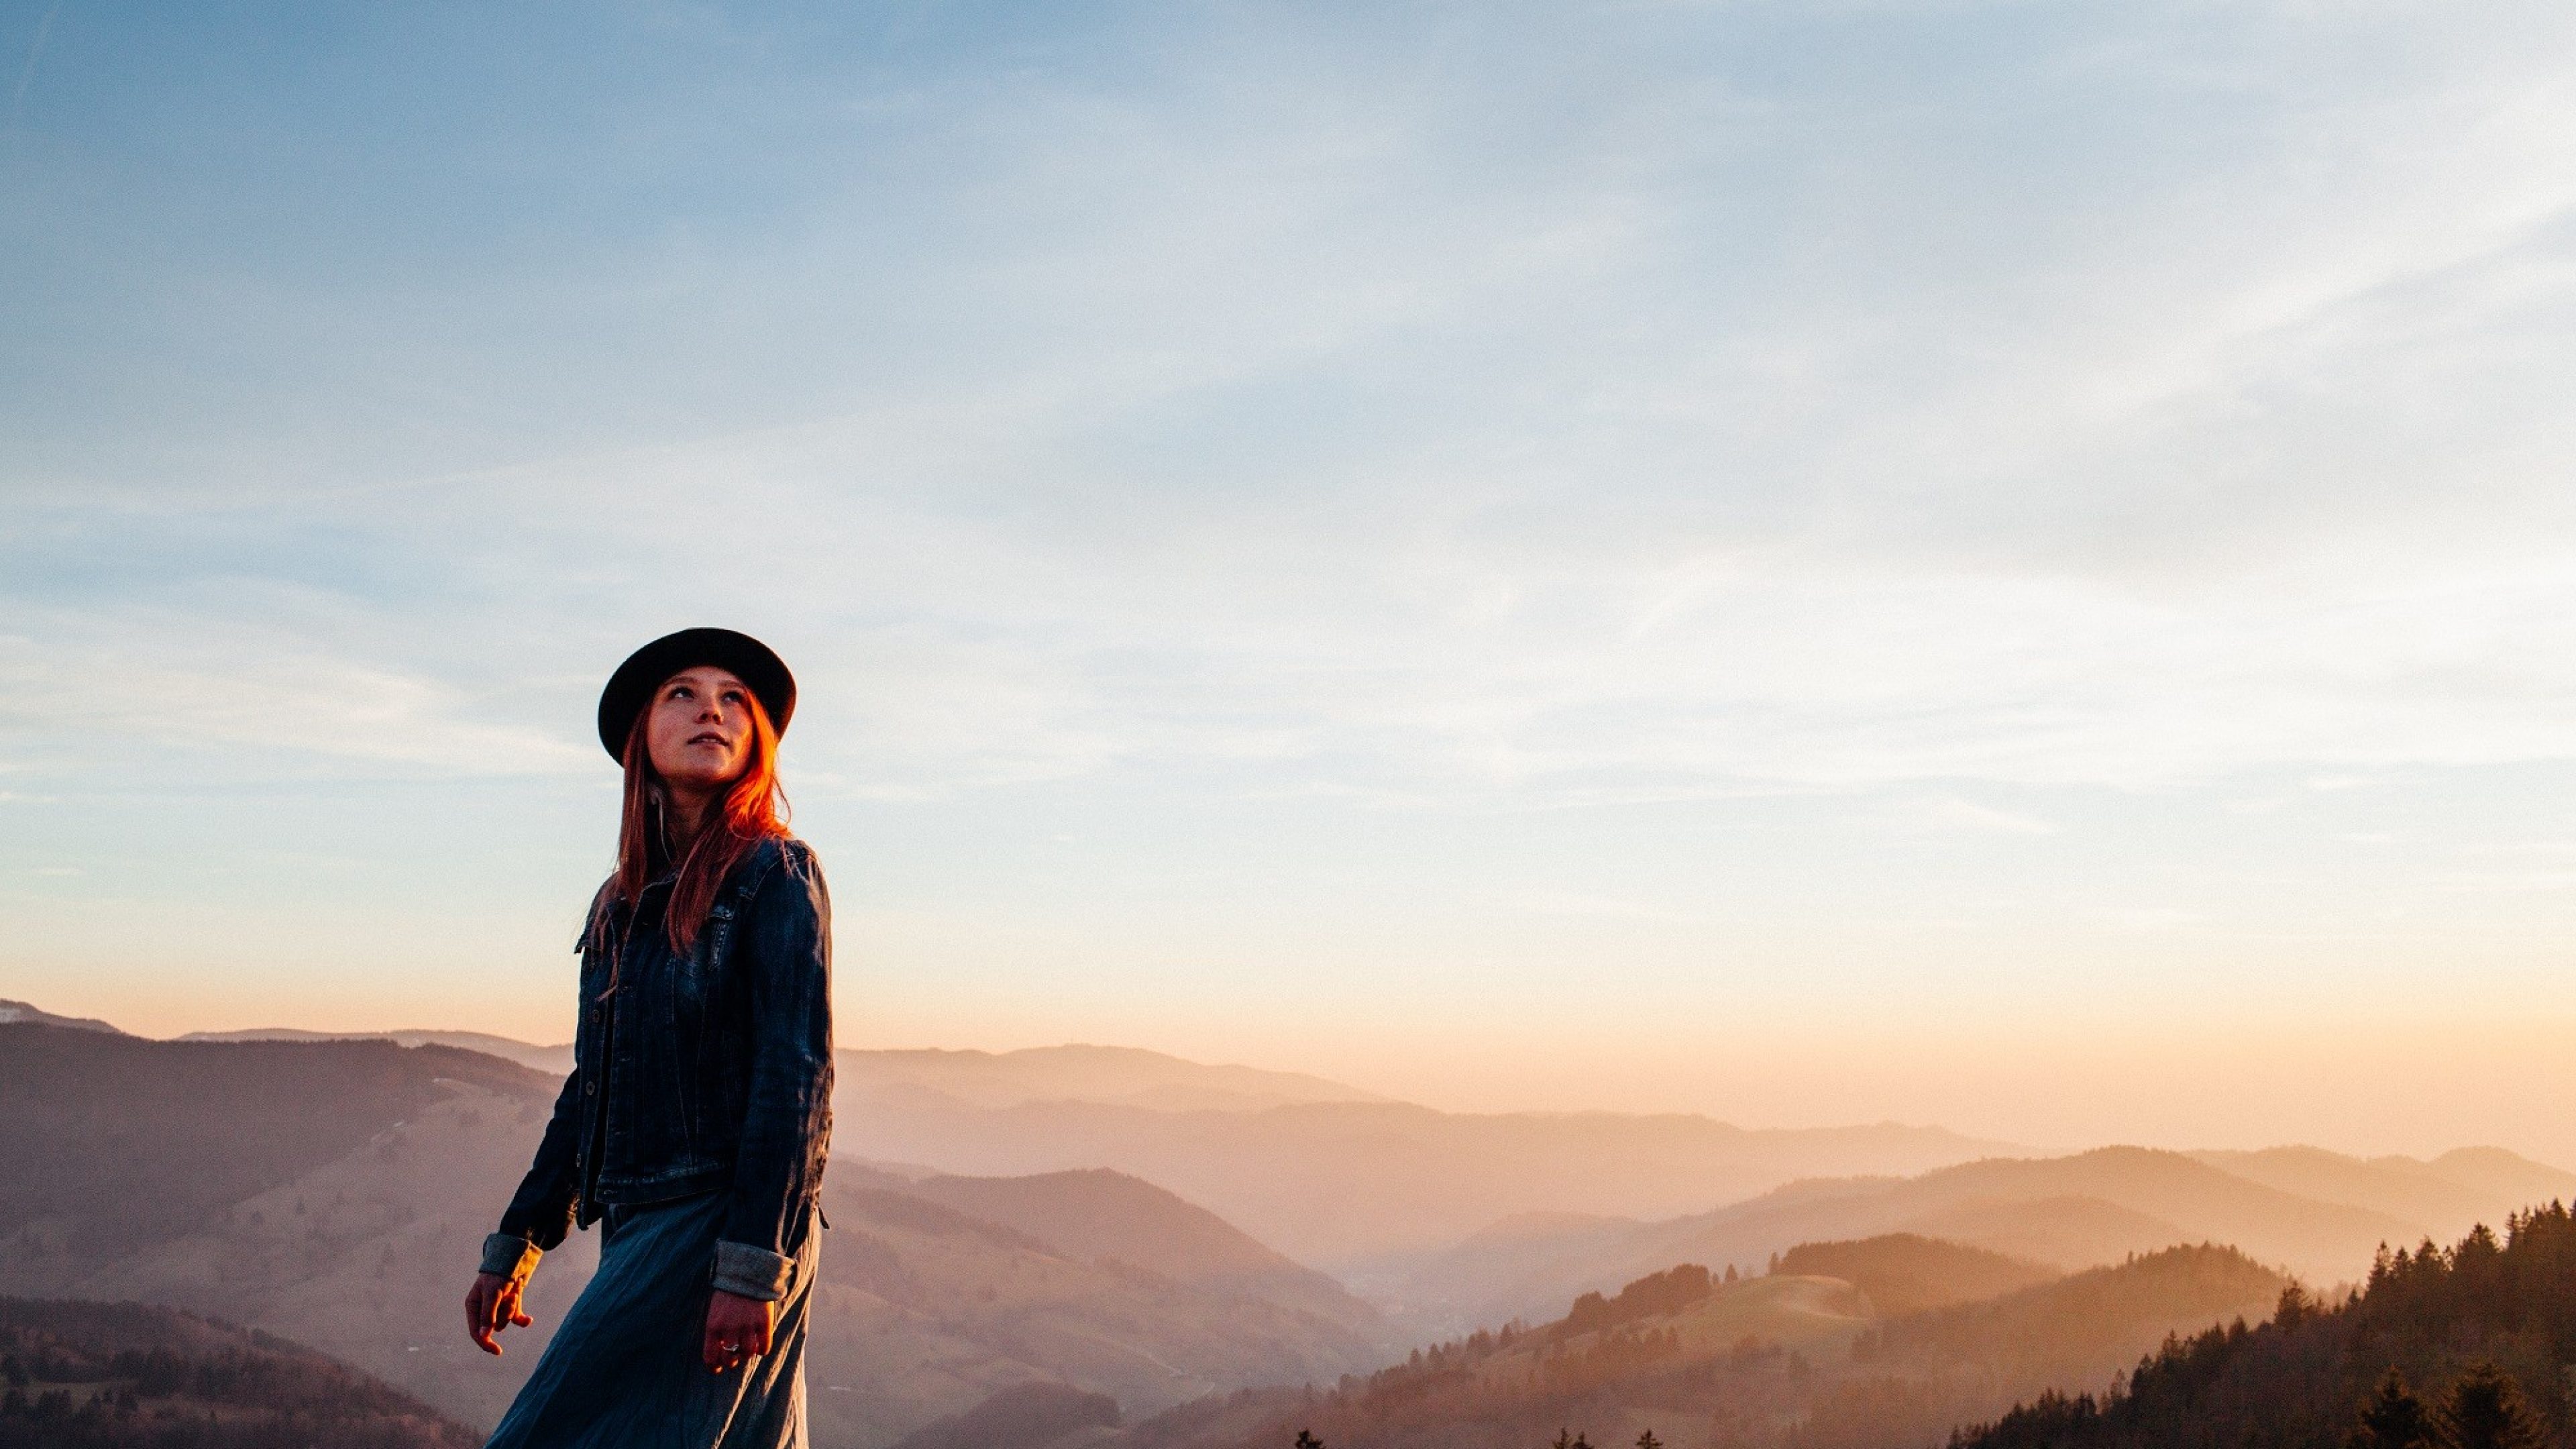
<svg viewBox="0 0 2576 1449"><path fill-rule="evenodd" d="M1803 1266L1811 1271L1788 1271ZM1837 1266L1896 1302L1886 1318ZM2048 1385L2107 1382L2174 1330L2262 1312L2282 1281L2231 1248L2174 1248L2038 1281L2045 1269L1927 1238L1793 1248L1777 1274L1685 1263L1584 1294L1546 1325L1504 1325L1345 1379L1242 1395L1139 1423L1131 1449L1899 1449Z"/></svg>

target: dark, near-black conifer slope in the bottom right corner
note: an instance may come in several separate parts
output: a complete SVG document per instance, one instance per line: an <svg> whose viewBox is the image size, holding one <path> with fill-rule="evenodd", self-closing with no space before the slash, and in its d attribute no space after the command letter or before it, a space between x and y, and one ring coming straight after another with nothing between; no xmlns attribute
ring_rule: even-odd
<svg viewBox="0 0 2576 1449"><path fill-rule="evenodd" d="M1953 1449L2568 1449L2576 1217L2550 1204L2452 1248L2383 1250L2336 1305L2169 1338L2102 1397L2040 1395Z"/></svg>

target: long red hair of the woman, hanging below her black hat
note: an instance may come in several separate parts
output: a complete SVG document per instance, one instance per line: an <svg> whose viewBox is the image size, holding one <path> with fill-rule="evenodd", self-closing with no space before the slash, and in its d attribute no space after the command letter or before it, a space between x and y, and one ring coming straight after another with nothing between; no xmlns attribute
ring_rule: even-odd
<svg viewBox="0 0 2576 1449"><path fill-rule="evenodd" d="M662 784L662 771L652 768L652 743L647 740L652 704L636 709L636 722L626 730L626 810L618 817L618 869L600 890L631 910L659 874L657 866L670 861L672 848L680 848L680 879L672 882L670 905L662 913L662 931L677 954L688 954L698 944L698 931L706 928L706 913L716 905L724 877L734 874L734 866L760 841L788 833L788 794L778 784L778 727L770 724L770 712L750 691L742 694L742 704L752 714L752 758L716 802L706 828L685 846L667 835L670 786ZM605 913L600 915L605 918Z"/></svg>

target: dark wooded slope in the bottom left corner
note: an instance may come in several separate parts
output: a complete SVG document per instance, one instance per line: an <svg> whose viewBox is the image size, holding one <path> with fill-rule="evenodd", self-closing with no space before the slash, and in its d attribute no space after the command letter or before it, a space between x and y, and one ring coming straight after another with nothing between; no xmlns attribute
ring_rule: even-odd
<svg viewBox="0 0 2576 1449"><path fill-rule="evenodd" d="M469 1449L309 1348L149 1305L0 1299L0 1449Z"/></svg>

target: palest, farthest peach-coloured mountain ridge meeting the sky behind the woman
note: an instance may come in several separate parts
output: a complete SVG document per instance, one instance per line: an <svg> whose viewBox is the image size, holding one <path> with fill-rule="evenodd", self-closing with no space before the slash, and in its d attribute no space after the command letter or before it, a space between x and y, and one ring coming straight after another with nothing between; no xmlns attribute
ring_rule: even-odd
<svg viewBox="0 0 2576 1449"><path fill-rule="evenodd" d="M569 1065L564 1047L479 1034L381 1039L497 1052L538 1070ZM1680 1214L1806 1176L1922 1173L2012 1150L1901 1124L1744 1129L1690 1114L1455 1114L1314 1075L1126 1047L850 1049L835 1065L840 1155L961 1176L1115 1168L1370 1292L1394 1289L1422 1253L1507 1214Z"/></svg>

